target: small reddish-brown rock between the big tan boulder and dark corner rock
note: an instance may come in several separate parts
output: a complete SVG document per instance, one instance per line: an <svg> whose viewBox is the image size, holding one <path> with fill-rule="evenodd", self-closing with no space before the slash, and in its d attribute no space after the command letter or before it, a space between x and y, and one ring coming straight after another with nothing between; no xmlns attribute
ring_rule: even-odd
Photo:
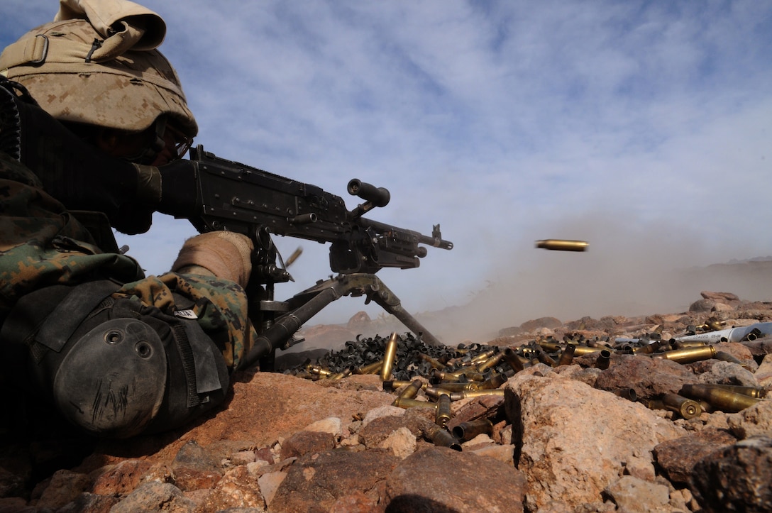
<svg viewBox="0 0 772 513"><path fill-rule="evenodd" d="M673 483L686 484L694 465L715 451L737 441L724 430L705 428L654 447L654 457L665 476Z"/></svg>

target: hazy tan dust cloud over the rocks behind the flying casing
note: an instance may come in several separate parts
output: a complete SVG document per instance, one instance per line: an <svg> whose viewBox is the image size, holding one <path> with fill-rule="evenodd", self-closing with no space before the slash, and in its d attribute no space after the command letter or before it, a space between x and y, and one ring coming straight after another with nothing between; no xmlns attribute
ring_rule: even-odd
<svg viewBox="0 0 772 513"><path fill-rule="evenodd" d="M584 252L535 248L544 238L589 242ZM642 316L686 312L703 290L772 299L772 262L737 262L765 248L732 245L672 221L635 224L586 214L535 227L508 251L492 249L486 286L466 305L418 318L444 343L485 342L499 329L553 316ZM769 254L769 249L763 255ZM754 254L753 251L756 251Z"/></svg>

